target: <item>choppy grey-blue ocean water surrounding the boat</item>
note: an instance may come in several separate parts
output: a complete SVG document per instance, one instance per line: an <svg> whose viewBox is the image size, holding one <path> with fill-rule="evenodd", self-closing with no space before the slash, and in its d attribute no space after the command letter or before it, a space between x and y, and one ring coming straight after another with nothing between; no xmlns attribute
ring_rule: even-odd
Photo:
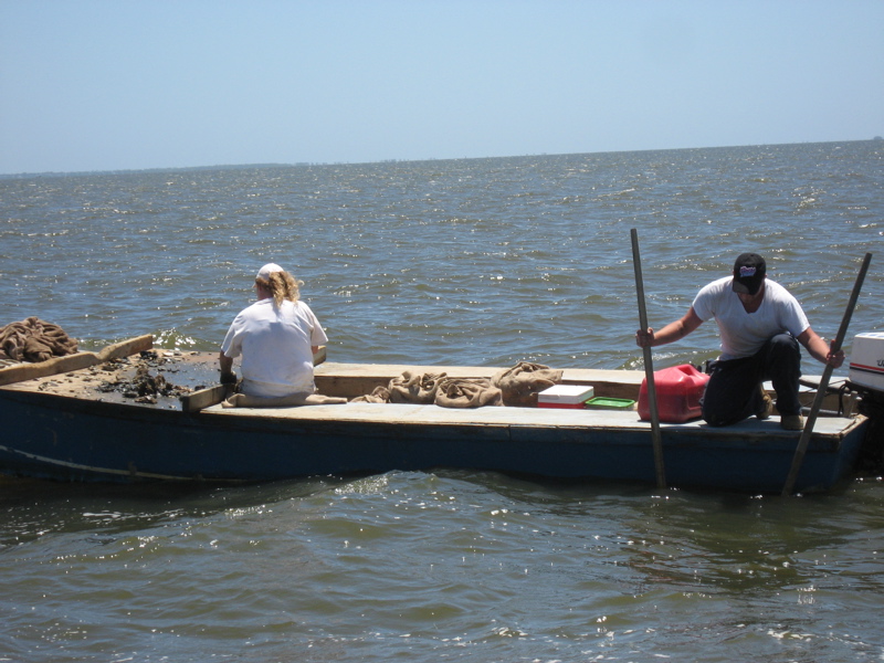
<svg viewBox="0 0 884 663"><path fill-rule="evenodd" d="M273 261L334 361L640 368L634 228L657 327L755 251L831 338L872 252L850 352L884 330L882 210L884 141L6 177L0 324L214 350ZM4 481L0 661L881 661L883 506L875 476Z"/></svg>

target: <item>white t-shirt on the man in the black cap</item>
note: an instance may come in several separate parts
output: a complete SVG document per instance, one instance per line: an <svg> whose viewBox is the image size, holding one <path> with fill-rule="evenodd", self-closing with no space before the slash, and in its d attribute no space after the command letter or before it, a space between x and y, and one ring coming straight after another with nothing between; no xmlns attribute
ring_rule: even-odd
<svg viewBox="0 0 884 663"><path fill-rule="evenodd" d="M722 359L751 357L771 337L789 332L798 337L810 324L789 291L765 280L765 296L755 313L746 313L739 296L732 290L734 277L714 281L697 293L694 313L703 322L715 318L722 337Z"/></svg>

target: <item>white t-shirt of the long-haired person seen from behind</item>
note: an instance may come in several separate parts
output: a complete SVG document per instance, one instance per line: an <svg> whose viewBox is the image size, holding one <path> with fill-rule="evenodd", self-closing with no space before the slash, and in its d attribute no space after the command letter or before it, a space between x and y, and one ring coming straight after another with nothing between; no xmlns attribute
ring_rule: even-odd
<svg viewBox="0 0 884 663"><path fill-rule="evenodd" d="M221 351L231 359L242 355L244 391L276 397L314 392L313 350L328 341L319 320L304 302L273 298L255 302L230 325Z"/></svg>

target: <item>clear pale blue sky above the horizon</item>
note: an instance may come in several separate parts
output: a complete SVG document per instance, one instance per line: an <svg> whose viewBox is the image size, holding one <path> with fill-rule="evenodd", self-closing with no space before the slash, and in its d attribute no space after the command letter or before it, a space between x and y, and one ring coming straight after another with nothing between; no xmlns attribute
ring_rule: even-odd
<svg viewBox="0 0 884 663"><path fill-rule="evenodd" d="M884 135L884 0L0 0L0 173Z"/></svg>

